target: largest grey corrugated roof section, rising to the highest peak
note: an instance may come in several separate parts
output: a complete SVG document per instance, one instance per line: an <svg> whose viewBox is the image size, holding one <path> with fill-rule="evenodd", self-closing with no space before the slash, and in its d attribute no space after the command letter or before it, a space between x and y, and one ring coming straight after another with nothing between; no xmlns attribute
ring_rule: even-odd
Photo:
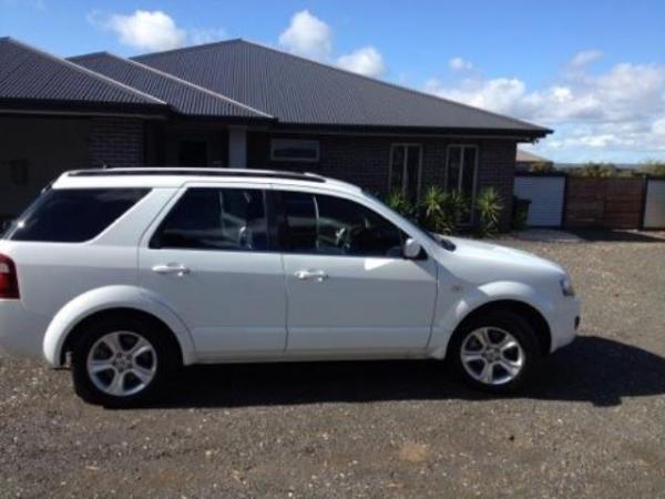
<svg viewBox="0 0 665 499"><path fill-rule="evenodd" d="M551 131L244 40L133 58L298 125Z"/></svg>

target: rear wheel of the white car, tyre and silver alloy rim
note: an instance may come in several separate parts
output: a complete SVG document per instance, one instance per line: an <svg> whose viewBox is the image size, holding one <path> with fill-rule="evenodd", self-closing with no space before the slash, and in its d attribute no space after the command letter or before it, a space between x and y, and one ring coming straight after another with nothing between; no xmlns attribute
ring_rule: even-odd
<svg viewBox="0 0 665 499"><path fill-rule="evenodd" d="M129 407L153 398L176 366L164 332L137 317L94 322L72 355L76 394L92 404Z"/></svg>

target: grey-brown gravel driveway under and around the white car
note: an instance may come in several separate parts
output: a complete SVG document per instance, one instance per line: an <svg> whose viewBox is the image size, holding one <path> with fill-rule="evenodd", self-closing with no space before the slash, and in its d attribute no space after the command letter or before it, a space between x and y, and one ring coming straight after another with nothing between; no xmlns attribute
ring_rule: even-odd
<svg viewBox="0 0 665 499"><path fill-rule="evenodd" d="M512 399L428 361L291 364L193 368L163 407L105 410L0 358L0 497L665 497L665 240L593 238L502 240L584 299Z"/></svg>

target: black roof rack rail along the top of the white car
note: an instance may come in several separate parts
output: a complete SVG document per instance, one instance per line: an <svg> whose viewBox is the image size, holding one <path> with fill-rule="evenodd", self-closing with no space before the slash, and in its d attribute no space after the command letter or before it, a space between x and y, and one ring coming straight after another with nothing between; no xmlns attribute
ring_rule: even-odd
<svg viewBox="0 0 665 499"><path fill-rule="evenodd" d="M133 175L177 175L177 176L241 176L241 177L268 177L297 180L305 182L326 182L326 179L313 173L279 172L275 170L253 169L207 169L207 167L103 167L91 170L76 170L68 176L133 176Z"/></svg>

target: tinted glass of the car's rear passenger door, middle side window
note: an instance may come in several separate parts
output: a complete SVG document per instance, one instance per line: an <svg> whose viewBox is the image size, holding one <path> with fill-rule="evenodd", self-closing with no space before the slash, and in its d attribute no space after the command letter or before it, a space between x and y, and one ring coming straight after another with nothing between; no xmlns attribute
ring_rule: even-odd
<svg viewBox="0 0 665 499"><path fill-rule="evenodd" d="M190 189L153 236L151 247L268 249L263 191Z"/></svg>

